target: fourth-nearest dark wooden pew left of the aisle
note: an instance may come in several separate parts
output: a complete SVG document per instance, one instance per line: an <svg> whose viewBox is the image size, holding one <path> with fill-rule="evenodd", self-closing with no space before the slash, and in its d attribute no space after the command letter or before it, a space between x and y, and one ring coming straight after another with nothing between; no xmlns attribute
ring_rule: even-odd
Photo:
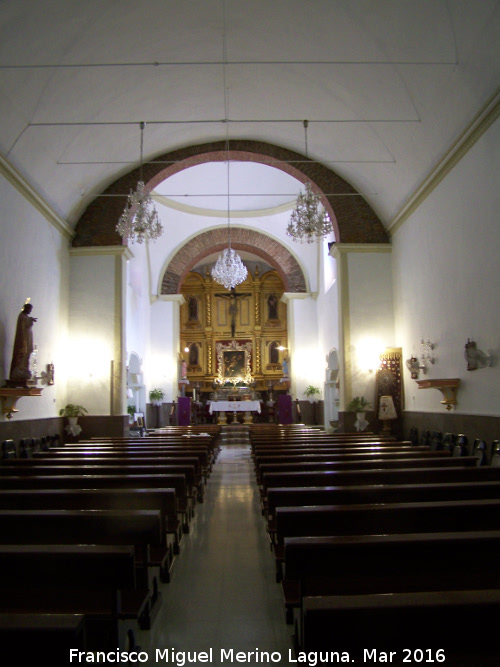
<svg viewBox="0 0 500 667"><path fill-rule="evenodd" d="M168 583L182 536L174 489L0 489L0 510L157 510L162 521L163 545L150 546L149 562L160 580Z"/></svg>

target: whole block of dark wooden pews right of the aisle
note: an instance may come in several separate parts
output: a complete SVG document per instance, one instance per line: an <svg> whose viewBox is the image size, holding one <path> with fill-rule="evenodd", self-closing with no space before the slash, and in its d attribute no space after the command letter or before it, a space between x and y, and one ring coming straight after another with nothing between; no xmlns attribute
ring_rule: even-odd
<svg viewBox="0 0 500 667"><path fill-rule="evenodd" d="M498 663L498 467L373 434L250 437L299 661Z"/></svg>

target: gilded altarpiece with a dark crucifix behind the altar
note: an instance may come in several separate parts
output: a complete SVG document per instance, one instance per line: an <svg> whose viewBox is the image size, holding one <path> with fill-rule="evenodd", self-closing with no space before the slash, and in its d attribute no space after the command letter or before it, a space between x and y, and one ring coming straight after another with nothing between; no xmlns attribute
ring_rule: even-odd
<svg viewBox="0 0 500 667"><path fill-rule="evenodd" d="M209 269L187 274L181 294L180 356L187 363L190 384L211 391L214 382L229 373L229 354L244 351L242 379L250 369L257 390L279 382L282 364L288 358L287 306L279 274L258 268L234 290L216 283ZM238 361L241 363L242 359Z"/></svg>

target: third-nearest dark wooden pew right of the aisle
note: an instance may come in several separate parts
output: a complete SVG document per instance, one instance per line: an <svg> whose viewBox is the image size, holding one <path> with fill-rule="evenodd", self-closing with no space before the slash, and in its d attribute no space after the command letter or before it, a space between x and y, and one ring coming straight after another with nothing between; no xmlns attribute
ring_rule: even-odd
<svg viewBox="0 0 500 667"><path fill-rule="evenodd" d="M276 579L290 537L500 530L500 498L276 509ZM288 574L286 574L288 576Z"/></svg>

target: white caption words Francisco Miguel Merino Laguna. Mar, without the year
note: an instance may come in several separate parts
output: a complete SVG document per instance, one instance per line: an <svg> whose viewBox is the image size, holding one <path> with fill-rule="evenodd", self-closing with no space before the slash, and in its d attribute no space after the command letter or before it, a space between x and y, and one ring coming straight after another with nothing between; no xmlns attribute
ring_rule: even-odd
<svg viewBox="0 0 500 667"><path fill-rule="evenodd" d="M156 662L170 663L176 667L184 667L189 664L212 663L214 661L214 650L207 651L177 651L176 649L156 649L154 655L152 651L79 651L70 649L70 663L141 663L148 662L150 658ZM151 655L150 655L151 654ZM385 653L377 649L364 649L364 663L386 663L392 662L395 652ZM217 656L215 656L217 660ZM218 663L280 663L283 655L279 651L235 651L232 648L220 649ZM324 663L347 663L352 662L347 651L310 651L295 654L292 649L288 650L288 656L285 656L289 664L297 663L299 665L316 665Z"/></svg>

